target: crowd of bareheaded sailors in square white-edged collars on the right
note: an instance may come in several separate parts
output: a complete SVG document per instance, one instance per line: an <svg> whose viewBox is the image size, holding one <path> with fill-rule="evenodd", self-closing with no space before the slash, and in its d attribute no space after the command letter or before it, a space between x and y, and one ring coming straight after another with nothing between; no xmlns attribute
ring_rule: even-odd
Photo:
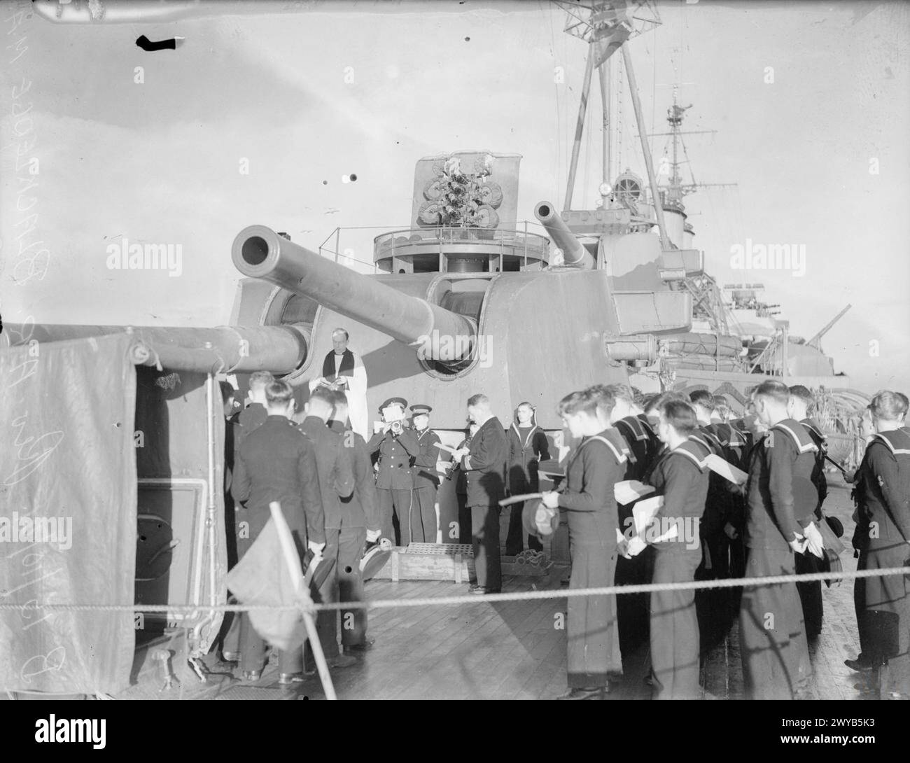
<svg viewBox="0 0 910 763"><path fill-rule="evenodd" d="M773 380L749 392L747 415L738 420L723 397L704 391L665 392L643 409L624 385L572 392L559 412L580 440L567 457L560 490L543 493L541 505L525 512L525 524L550 534L557 512L565 513L571 588L827 571L827 549L836 545L830 539L843 527L822 509L825 444L809 418L812 405L803 386ZM859 569L910 564L906 411L900 392L879 392L869 405L874 432L851 478ZM712 456L742 470L745 482L721 476L725 470L716 469ZM615 485L626 480L653 488L638 500L662 497L648 532L634 529L637 501L616 500ZM882 697L910 698L907 579L855 581L862 653L846 662L878 671ZM635 595L621 598L633 604ZM615 596L570 596L568 602L569 689L561 698L602 697L622 675L618 626L634 607L618 608ZM699 697L700 655L737 618L747 697L805 696L812 670L808 641L822 629L820 581L663 589L652 592L648 611L646 680L653 697Z"/></svg>

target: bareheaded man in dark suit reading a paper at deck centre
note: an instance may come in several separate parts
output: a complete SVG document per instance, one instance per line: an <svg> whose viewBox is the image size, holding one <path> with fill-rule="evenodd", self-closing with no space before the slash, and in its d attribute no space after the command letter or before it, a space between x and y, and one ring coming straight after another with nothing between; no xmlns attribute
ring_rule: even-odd
<svg viewBox="0 0 910 763"><path fill-rule="evenodd" d="M472 594L498 594L502 590L500 563L500 506L506 494L509 443L500 420L490 411L486 395L468 399L468 419L478 424L470 445L453 453L468 475L467 505L470 507L471 545L477 583Z"/></svg>

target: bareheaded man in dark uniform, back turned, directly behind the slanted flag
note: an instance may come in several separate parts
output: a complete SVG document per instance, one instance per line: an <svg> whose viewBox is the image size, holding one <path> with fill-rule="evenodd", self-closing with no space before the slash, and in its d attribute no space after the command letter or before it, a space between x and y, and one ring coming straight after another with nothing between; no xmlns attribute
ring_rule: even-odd
<svg viewBox="0 0 910 763"><path fill-rule="evenodd" d="M294 411L290 384L272 382L265 393L266 420L247 435L234 460L231 494L238 504L244 504L238 511L240 521L248 523L252 543L271 516L268 504L278 501L298 552L308 547L321 554L326 545L326 519L316 452L290 421ZM239 638L240 668L246 679L256 680L265 663L265 643L246 612L240 615Z"/></svg>

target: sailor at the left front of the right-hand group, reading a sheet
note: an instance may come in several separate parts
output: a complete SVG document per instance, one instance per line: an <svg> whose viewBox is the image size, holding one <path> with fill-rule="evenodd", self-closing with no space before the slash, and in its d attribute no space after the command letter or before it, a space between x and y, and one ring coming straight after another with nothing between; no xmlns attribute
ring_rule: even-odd
<svg viewBox="0 0 910 763"><path fill-rule="evenodd" d="M602 398L601 398L602 400ZM573 437L561 493L543 493L543 504L564 509L571 549L570 588L613 585L619 532L613 488L622 481L625 443L615 429L599 431L599 397L590 390L562 398L559 412ZM612 406L610 406L612 408ZM610 677L622 675L616 596L572 596L566 621L567 680L561 699L603 697Z"/></svg>

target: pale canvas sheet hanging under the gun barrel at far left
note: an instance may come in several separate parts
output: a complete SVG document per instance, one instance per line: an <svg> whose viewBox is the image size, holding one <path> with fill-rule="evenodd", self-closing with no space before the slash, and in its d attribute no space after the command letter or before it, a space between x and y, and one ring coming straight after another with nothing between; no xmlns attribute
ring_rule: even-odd
<svg viewBox="0 0 910 763"><path fill-rule="evenodd" d="M27 341L27 337L22 338ZM114 693L133 663L136 371L126 334L0 345L0 689Z"/></svg>

